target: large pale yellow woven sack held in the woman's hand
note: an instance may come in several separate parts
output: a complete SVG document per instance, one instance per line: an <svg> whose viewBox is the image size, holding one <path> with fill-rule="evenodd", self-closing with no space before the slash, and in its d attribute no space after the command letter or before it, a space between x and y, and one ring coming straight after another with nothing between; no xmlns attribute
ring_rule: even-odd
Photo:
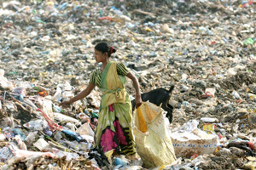
<svg viewBox="0 0 256 170"><path fill-rule="evenodd" d="M165 116L159 106L143 102L134 114L133 133L137 154L145 167L159 167L176 161Z"/></svg>

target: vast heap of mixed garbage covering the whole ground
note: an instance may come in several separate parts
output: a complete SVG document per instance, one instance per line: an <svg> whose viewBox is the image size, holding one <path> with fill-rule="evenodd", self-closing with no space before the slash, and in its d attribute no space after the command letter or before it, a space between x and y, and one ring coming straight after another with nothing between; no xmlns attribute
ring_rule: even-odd
<svg viewBox="0 0 256 170"><path fill-rule="evenodd" d="M0 167L143 168L90 150L101 94L58 104L89 83L94 46L137 76L142 92L175 85L166 169L256 167L256 2L3 1ZM135 94L132 83L127 91ZM86 129L86 130L84 130Z"/></svg>

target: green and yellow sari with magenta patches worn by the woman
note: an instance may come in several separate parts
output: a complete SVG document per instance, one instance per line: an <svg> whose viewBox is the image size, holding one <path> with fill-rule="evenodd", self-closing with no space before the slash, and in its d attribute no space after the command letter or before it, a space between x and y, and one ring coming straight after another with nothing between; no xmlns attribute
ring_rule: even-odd
<svg viewBox="0 0 256 170"><path fill-rule="evenodd" d="M125 90L125 76L117 73L116 62L108 62L102 74L102 101L96 127L96 147L121 155L136 153L131 132L131 100Z"/></svg>

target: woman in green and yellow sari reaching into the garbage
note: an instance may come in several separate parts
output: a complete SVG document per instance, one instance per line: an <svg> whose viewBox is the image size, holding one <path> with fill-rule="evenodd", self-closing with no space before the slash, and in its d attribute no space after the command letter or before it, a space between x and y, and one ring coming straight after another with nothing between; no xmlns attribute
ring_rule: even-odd
<svg viewBox="0 0 256 170"><path fill-rule="evenodd" d="M95 144L104 152L115 150L130 159L136 158L133 134L131 133L131 100L125 90L126 77L130 78L136 90L136 106L142 105L137 78L125 65L110 61L115 53L108 43L100 42L95 47L96 63L102 62L102 68L93 71L88 87L80 94L61 105L70 105L86 97L96 86L102 90L99 120L96 127Z"/></svg>

